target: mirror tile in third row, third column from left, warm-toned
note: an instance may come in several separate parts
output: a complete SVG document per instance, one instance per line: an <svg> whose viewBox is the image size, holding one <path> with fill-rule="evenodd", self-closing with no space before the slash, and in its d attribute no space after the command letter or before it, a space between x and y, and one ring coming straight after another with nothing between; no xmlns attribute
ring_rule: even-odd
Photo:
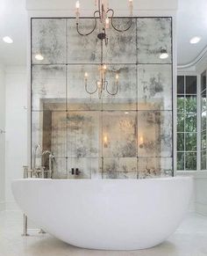
<svg viewBox="0 0 207 256"><path fill-rule="evenodd" d="M103 157L137 156L137 113L103 112Z"/></svg>

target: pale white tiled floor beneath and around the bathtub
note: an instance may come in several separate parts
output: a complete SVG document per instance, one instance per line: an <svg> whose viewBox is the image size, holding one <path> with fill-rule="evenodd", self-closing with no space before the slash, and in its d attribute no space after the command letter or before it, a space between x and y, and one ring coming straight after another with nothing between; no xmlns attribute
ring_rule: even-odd
<svg viewBox="0 0 207 256"><path fill-rule="evenodd" d="M207 216L190 214L166 242L147 250L96 251L67 245L52 236L31 232L21 237L22 214L0 212L0 256L203 256L207 255Z"/></svg>

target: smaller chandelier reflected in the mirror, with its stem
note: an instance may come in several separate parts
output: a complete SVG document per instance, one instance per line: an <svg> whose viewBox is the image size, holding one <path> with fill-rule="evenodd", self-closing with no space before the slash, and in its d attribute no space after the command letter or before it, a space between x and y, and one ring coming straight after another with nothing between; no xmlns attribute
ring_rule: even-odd
<svg viewBox="0 0 207 256"><path fill-rule="evenodd" d="M89 74L87 72L84 73L85 91L87 93L92 95L92 94L96 93L96 91L97 91L99 99L103 98L104 91L109 93L111 96L115 96L116 94L118 94L118 72L116 72L115 79L114 79L115 90L110 91L109 90L109 83L106 80L107 69L108 69L107 65L103 63L103 39L101 39L101 64L98 66L99 79L96 80L95 90L94 91L89 91L89 89L88 89Z"/></svg>

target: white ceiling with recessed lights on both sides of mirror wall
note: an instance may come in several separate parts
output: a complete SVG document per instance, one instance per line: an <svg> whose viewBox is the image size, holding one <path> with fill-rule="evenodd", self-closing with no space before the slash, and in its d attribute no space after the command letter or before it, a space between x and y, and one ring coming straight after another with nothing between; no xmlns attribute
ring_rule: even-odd
<svg viewBox="0 0 207 256"><path fill-rule="evenodd" d="M0 64L26 65L27 22L25 0L0 0ZM194 61L207 46L206 32L207 1L179 0L177 14L179 65ZM4 43L2 37L5 35L10 35L14 43ZM196 45L191 45L189 39L194 36L200 36L202 40Z"/></svg>

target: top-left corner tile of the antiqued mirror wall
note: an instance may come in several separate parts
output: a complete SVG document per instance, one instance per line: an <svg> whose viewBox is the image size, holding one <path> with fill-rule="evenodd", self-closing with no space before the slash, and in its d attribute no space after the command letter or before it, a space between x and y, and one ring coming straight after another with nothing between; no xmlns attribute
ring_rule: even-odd
<svg viewBox="0 0 207 256"><path fill-rule="evenodd" d="M32 18L32 63L66 63L65 18Z"/></svg>

